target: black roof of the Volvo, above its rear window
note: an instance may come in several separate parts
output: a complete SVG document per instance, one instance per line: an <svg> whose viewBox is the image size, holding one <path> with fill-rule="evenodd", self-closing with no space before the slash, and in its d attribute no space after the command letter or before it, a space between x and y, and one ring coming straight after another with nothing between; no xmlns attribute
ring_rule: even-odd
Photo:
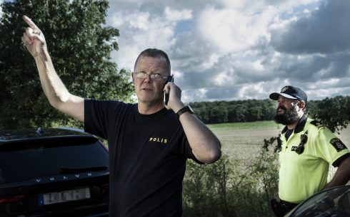
<svg viewBox="0 0 350 217"><path fill-rule="evenodd" d="M82 129L70 127L13 129L0 131L0 144L67 137L94 137L94 135L85 133Z"/></svg>

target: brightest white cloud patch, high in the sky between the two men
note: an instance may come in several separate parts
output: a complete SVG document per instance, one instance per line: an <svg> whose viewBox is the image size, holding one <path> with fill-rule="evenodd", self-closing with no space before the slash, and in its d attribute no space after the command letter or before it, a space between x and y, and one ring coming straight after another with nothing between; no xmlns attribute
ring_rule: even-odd
<svg viewBox="0 0 350 217"><path fill-rule="evenodd" d="M268 37L266 26L276 14L273 6L254 14L236 9L209 7L197 18L199 36L223 53L244 51Z"/></svg>

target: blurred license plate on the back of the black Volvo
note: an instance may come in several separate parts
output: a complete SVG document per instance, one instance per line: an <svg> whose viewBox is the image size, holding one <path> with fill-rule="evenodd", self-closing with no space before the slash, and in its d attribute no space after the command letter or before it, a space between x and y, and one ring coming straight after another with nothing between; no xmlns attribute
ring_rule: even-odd
<svg viewBox="0 0 350 217"><path fill-rule="evenodd" d="M64 203L69 201L79 201L90 198L90 189L74 189L69 191L51 192L47 194L39 194L39 206Z"/></svg>

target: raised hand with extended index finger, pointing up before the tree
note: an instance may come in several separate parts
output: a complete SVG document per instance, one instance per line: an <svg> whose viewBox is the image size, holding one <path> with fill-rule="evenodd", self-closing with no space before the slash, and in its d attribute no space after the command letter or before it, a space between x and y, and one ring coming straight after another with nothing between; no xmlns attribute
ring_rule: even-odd
<svg viewBox="0 0 350 217"><path fill-rule="evenodd" d="M22 18L26 21L29 27L26 28L21 40L29 53L36 58L41 53L44 53L44 51L47 51L44 34L28 16L24 15Z"/></svg>

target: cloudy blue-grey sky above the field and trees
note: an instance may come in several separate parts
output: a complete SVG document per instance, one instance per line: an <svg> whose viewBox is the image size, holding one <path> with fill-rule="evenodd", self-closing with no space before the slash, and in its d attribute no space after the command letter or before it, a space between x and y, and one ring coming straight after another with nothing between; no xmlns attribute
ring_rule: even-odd
<svg viewBox="0 0 350 217"><path fill-rule="evenodd" d="M3 0L0 0L0 3ZM350 95L349 0L114 0L119 69L165 51L184 102L262 100L285 85L309 100ZM0 8L0 16L1 16Z"/></svg>

